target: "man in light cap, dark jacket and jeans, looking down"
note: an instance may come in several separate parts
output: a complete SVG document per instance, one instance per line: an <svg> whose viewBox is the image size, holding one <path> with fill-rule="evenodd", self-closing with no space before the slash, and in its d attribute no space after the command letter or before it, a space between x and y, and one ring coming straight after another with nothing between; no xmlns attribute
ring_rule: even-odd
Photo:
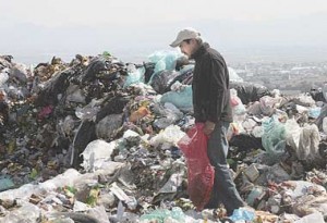
<svg viewBox="0 0 327 223"><path fill-rule="evenodd" d="M201 34L193 28L179 32L170 45L179 47L195 60L193 74L193 109L195 122L204 123L203 132L209 136L207 153L215 168L211 198L205 208L218 208L222 202L227 214L244 206L227 165L228 141L226 133L232 122L229 73L219 52L203 42Z"/></svg>

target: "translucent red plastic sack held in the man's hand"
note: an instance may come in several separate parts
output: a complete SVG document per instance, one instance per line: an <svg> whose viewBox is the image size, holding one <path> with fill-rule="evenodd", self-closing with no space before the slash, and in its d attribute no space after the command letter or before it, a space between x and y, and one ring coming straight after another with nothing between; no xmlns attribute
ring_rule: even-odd
<svg viewBox="0 0 327 223"><path fill-rule="evenodd" d="M215 179L215 169L207 156L208 137L203 123L196 123L178 143L187 163L187 194L198 211L209 201Z"/></svg>

